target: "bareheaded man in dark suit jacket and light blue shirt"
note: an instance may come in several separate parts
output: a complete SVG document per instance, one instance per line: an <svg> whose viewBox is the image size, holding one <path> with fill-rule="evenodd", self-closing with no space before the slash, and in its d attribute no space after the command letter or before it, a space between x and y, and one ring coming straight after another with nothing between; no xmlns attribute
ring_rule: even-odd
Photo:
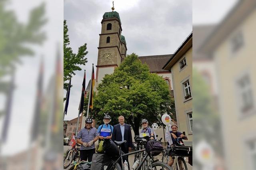
<svg viewBox="0 0 256 170"><path fill-rule="evenodd" d="M113 133L112 133L112 140L113 141L124 141L125 143L121 145L122 151L124 153L128 153L129 150L132 149L132 130L131 126L124 123L124 117L118 117L119 124L114 126ZM128 156L127 156L128 159ZM126 160L128 162L128 160ZM129 165L129 162L128 162ZM130 166L129 166L130 169Z"/></svg>

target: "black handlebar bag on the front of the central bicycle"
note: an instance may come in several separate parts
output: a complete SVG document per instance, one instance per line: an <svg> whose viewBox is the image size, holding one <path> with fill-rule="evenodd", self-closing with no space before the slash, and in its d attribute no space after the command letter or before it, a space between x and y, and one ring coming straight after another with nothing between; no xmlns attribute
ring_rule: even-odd
<svg viewBox="0 0 256 170"><path fill-rule="evenodd" d="M145 148L146 152L151 156L157 156L164 150L162 143L155 140L148 141Z"/></svg>

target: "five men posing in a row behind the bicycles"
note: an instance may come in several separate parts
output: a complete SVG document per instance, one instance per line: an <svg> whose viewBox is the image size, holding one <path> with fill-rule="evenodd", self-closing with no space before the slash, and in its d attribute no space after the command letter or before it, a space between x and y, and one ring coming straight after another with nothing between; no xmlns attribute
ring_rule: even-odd
<svg viewBox="0 0 256 170"><path fill-rule="evenodd" d="M128 153L132 149L132 131L131 126L124 123L124 116L119 116L117 125L110 125L111 117L110 115L105 115L103 125L100 125L98 129L92 127L92 119L87 118L85 121L85 127L82 128L78 135L76 136L77 142L81 144L80 146L80 159L88 160L92 162L92 155L95 153L94 142L97 140L111 139L112 141L124 141L121 148L124 153ZM142 130L141 133L148 133L150 139L156 138L155 132L152 128L148 127L148 121L142 119ZM168 141L168 146L175 144L175 139L181 137L188 140L184 134L178 132L178 126L176 124L171 125L171 130L167 128L166 130L166 140ZM171 159L169 165L173 164Z"/></svg>

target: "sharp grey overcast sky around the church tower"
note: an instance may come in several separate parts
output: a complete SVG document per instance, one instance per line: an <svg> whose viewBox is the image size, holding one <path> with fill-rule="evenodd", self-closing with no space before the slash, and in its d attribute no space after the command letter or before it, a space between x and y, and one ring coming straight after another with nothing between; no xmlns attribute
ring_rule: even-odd
<svg viewBox="0 0 256 170"><path fill-rule="evenodd" d="M99 34L102 16L110 12L112 0L66 0L64 19L67 20L70 47L77 51L87 43L88 63L86 85L90 80L92 63L97 65ZM122 35L127 43L127 54L172 54L192 31L192 0L115 0L115 11L122 22ZM96 67L94 68L96 74ZM68 114L65 120L78 116L83 71L72 79ZM66 95L66 91L64 92Z"/></svg>

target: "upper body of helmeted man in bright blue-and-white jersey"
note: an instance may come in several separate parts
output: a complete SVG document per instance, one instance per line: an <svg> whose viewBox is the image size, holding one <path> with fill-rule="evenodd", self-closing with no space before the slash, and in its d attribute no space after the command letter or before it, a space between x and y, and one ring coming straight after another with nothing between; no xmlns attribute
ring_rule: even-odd
<svg viewBox="0 0 256 170"><path fill-rule="evenodd" d="M113 132L113 126L109 125L110 121L111 121L110 115L106 114L103 119L104 124L100 125L98 127L98 133L100 134L100 136L99 136L100 140L103 140L104 138L111 139L112 132Z"/></svg>

